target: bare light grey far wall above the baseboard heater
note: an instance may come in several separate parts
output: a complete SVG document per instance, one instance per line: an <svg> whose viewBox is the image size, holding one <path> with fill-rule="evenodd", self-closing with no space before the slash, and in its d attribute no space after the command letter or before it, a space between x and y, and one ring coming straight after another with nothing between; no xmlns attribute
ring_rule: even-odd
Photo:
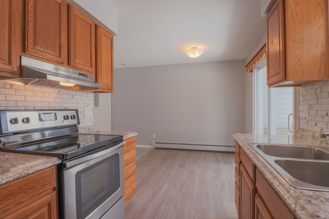
<svg viewBox="0 0 329 219"><path fill-rule="evenodd" d="M115 69L112 130L157 142L234 145L245 132L244 61Z"/></svg>

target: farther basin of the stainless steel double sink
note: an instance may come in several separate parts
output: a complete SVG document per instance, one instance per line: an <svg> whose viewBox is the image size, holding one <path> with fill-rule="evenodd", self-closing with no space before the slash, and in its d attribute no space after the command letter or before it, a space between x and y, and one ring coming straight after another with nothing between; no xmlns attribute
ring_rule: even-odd
<svg viewBox="0 0 329 219"><path fill-rule="evenodd" d="M311 160L329 160L329 152L310 146L296 145L256 145L263 153L270 156L300 158Z"/></svg>

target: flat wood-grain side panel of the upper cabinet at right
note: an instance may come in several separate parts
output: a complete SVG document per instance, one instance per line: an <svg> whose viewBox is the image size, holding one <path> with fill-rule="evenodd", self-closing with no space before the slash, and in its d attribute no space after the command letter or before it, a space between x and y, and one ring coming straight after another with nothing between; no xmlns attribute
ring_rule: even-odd
<svg viewBox="0 0 329 219"><path fill-rule="evenodd" d="M285 1L287 81L329 79L327 4Z"/></svg>

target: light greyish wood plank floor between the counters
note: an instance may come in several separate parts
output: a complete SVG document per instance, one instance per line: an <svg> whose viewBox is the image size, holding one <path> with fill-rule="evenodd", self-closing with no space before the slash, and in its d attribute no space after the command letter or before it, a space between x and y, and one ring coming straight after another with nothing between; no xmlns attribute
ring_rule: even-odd
<svg viewBox="0 0 329 219"><path fill-rule="evenodd" d="M136 163L126 219L235 219L234 154L154 149Z"/></svg>

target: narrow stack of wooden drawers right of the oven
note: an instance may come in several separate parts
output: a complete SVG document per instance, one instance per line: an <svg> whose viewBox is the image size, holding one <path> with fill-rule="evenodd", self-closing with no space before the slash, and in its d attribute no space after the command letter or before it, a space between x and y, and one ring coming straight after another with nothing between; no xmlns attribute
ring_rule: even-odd
<svg viewBox="0 0 329 219"><path fill-rule="evenodd" d="M125 140L124 151L124 206L136 193L136 137Z"/></svg>

